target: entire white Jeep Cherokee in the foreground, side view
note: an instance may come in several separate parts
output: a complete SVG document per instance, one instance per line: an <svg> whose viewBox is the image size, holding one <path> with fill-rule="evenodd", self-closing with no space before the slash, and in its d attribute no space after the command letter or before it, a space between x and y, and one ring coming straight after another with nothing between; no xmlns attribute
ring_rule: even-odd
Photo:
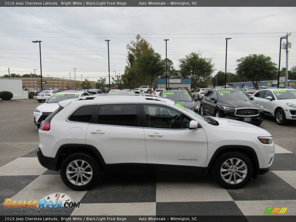
<svg viewBox="0 0 296 222"><path fill-rule="evenodd" d="M39 162L74 190L101 172L178 171L207 174L226 188L270 170L273 138L257 126L204 117L151 96L88 96L59 102L39 129Z"/></svg>

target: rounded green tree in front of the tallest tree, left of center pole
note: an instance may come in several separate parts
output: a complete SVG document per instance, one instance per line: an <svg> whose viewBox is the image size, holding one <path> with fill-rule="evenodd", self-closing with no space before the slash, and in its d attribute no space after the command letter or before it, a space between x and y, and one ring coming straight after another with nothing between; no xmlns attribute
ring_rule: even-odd
<svg viewBox="0 0 296 222"><path fill-rule="evenodd" d="M154 52L153 49L143 51L142 55L136 60L136 70L145 77L146 82L151 86L157 76L163 72L163 63L160 54Z"/></svg>

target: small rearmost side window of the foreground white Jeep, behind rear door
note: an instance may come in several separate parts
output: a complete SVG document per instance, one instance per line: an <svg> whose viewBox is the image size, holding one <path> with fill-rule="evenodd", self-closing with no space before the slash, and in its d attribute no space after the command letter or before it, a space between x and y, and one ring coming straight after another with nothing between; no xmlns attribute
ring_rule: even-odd
<svg viewBox="0 0 296 222"><path fill-rule="evenodd" d="M69 121L89 123L97 105L81 106L68 118Z"/></svg>

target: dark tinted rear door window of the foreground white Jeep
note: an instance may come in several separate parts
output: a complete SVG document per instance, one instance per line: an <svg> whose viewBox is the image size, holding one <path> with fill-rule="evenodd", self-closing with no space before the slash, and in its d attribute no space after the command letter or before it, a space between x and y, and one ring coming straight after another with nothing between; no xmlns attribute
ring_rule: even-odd
<svg viewBox="0 0 296 222"><path fill-rule="evenodd" d="M101 105L98 124L138 126L136 104Z"/></svg>

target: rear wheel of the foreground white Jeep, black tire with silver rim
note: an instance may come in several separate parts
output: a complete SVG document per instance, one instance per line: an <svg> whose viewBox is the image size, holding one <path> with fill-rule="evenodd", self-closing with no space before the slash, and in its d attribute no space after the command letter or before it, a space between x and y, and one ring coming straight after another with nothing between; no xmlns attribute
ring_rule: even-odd
<svg viewBox="0 0 296 222"><path fill-rule="evenodd" d="M74 165L74 161L77 162L78 166ZM85 163L83 163L83 161L85 161ZM89 164L89 166L87 164ZM84 167L87 168L84 169ZM70 177L69 179L67 177L67 170L73 171L73 173L68 173ZM80 172L81 174L79 174L78 172ZM92 172L92 175L90 174L90 172ZM61 165L60 174L63 182L67 185L67 187L76 191L84 191L91 188L94 183L97 182L101 175L101 169L96 160L94 160L88 154L76 153L71 154L66 159L64 159ZM74 180L77 181L77 184L75 184ZM82 183L85 184L83 185Z"/></svg>

